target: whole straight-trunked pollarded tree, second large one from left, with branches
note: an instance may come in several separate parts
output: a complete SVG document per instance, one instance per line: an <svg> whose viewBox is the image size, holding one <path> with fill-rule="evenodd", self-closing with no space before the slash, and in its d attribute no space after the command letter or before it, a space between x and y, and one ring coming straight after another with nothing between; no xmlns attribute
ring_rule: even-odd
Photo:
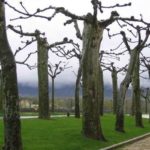
<svg viewBox="0 0 150 150"><path fill-rule="evenodd" d="M60 42L48 44L47 39L45 37L43 37L44 33L41 33L39 30L35 30L35 32L33 32L33 33L28 33L28 32L24 32L22 30L21 26L19 26L19 29L16 29L14 26L8 25L8 28L17 34L20 34L21 36L34 37L35 40L37 41L39 118L48 119L50 117L50 113L49 113L49 87L48 87L48 50L55 47L55 46L58 46L58 45L63 45L63 44L67 44L67 43L72 44L73 41L68 40L67 38L64 38ZM35 41L35 40L33 40L33 41ZM29 43L31 44L31 42L29 42ZM20 50L20 48L18 49L18 51L19 50ZM28 55L28 57L29 56L30 56L30 54ZM22 64L22 62L20 64Z"/></svg>

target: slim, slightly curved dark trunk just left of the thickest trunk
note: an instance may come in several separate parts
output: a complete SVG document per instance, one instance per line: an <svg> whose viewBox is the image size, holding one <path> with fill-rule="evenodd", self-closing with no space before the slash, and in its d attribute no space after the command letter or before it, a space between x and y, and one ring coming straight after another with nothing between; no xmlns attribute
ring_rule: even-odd
<svg viewBox="0 0 150 150"><path fill-rule="evenodd" d="M80 81L82 75L81 60L79 60L79 69L75 86L75 118L80 118Z"/></svg>

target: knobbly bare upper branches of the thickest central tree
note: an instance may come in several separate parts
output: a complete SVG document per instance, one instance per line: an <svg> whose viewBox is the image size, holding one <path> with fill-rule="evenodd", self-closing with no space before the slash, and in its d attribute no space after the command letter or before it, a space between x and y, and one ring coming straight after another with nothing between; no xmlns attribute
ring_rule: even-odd
<svg viewBox="0 0 150 150"><path fill-rule="evenodd" d="M54 6L48 6L44 9L40 9L38 8L34 13L29 13L28 11L24 12L24 11L20 11L18 10L17 8L13 7L12 5L8 4L7 2L5 2L5 4L10 7L11 9L13 9L14 11L18 12L19 14L23 15L23 16L20 16L18 18L15 18L13 20L16 20L16 19L27 19L27 18L31 18L31 17L37 17L37 18L44 18L44 19L47 19L47 20L51 20L57 13L62 13L64 14L65 16L67 17L70 17L71 19L74 19L74 20L81 20L81 21L87 21L87 22L90 22L92 23L93 22L93 19L94 19L94 16L97 15L97 8L100 9L101 12L102 11L102 8L115 8L115 7L125 7L125 6L130 6L131 3L128 3L128 4L123 4L123 5L120 5L120 4L116 4L116 5L113 5L113 6L102 6L101 2L99 2L98 0L92 0L92 4L93 4L93 11L94 11L94 15L91 15L91 19L89 19L89 13L87 15L84 15L84 16L77 16L71 12L69 12L68 10L66 10L64 7L54 7ZM22 4L23 6L23 4ZM23 10L25 9L25 6L23 6ZM54 10L53 14L51 16L42 16L42 15L39 15L39 13L41 12L45 12L47 10ZM106 20L101 20L99 21L99 24L101 26L104 26L104 27L107 27L108 25L110 25L111 23L113 23L114 21L130 21L130 22L141 22L145 25L148 25L150 26L149 23L147 23L146 21L142 19L136 19L134 18L133 16L131 16L130 18L122 18L122 17L119 17L119 14L117 11L112 11L111 15L110 15L110 18L106 19Z"/></svg>

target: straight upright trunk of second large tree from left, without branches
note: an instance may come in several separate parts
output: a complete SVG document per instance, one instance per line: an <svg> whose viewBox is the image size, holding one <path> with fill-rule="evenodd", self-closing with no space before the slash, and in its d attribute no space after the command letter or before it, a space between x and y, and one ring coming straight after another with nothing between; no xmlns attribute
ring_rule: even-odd
<svg viewBox="0 0 150 150"><path fill-rule="evenodd" d="M46 39L38 40L39 118L49 119L48 50Z"/></svg>

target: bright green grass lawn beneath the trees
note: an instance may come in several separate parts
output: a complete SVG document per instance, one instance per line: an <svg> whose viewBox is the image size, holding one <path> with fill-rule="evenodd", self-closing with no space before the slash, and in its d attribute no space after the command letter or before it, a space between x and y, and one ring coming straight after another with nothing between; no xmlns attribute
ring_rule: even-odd
<svg viewBox="0 0 150 150"><path fill-rule="evenodd" d="M101 118L102 128L107 142L85 138L81 134L81 119L53 118L51 120L22 120L22 137L24 150L98 150L102 147L133 138L150 132L150 124L144 119L145 128L136 128L134 119L126 117L126 133L114 131L115 117L104 115ZM2 120L0 130L3 130ZM0 132L0 145L3 143L3 132ZM0 148L1 149L1 148Z"/></svg>

